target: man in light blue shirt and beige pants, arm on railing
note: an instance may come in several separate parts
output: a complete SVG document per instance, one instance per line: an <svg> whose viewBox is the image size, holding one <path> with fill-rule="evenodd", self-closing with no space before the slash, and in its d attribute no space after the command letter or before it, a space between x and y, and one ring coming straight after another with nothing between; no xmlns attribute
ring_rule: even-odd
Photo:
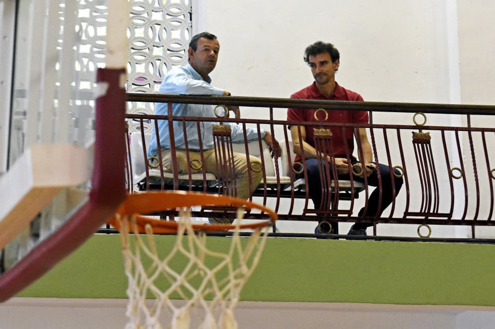
<svg viewBox="0 0 495 329"><path fill-rule="evenodd" d="M195 35L190 42L188 50L189 64L184 67L175 67L167 72L159 91L167 94L186 94L186 95L216 95L229 96L230 93L226 90L212 86L211 79L208 74L215 68L218 59L220 44L211 33L203 32ZM229 107L230 110L238 108ZM201 104L173 104L172 112L174 116L181 117L203 117L216 118L214 114L214 106ZM167 103L157 103L155 106L155 115L167 115ZM199 122L199 130L196 121L174 121L174 142L176 147L176 155L178 161L179 173L198 173L201 172L201 165L204 166L206 172L213 173L215 176L221 176L218 172L214 144L213 144L213 124L218 125L218 122L201 121ZM184 127L184 125L186 127ZM225 123L225 125L227 125ZM241 125L229 123L231 130L232 141L243 142L244 131ZM164 169L172 171L172 156L171 156L171 140L169 134L168 121L158 121L158 135L160 136L160 147ZM186 132L186 135L185 135ZM263 129L258 131L254 128L246 128L247 141L263 138L272 149L280 154L280 146L275 141L275 147L272 142L270 132ZM200 142L201 141L201 142ZM189 161L186 154L186 143L189 149ZM204 162L201 161L200 151L203 152ZM148 156L156 156L158 154L158 146L156 140L156 131L153 126L151 142L148 148ZM260 170L261 161L257 157L250 156L249 162L251 168L248 168L246 154L234 153L233 162L235 166L235 196L247 199L261 179L263 173ZM193 163L201 165L192 165ZM194 168L193 168L194 167ZM255 169L256 168L256 169Z"/></svg>

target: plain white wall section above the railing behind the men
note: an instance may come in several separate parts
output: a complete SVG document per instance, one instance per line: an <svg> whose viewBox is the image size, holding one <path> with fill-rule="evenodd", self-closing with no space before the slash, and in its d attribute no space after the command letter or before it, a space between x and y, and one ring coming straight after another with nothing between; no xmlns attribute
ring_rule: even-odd
<svg viewBox="0 0 495 329"><path fill-rule="evenodd" d="M302 61L316 40L341 53L337 80L365 100L448 103L443 1L212 0L205 28L220 40L214 81L236 95L288 97L312 82Z"/></svg>

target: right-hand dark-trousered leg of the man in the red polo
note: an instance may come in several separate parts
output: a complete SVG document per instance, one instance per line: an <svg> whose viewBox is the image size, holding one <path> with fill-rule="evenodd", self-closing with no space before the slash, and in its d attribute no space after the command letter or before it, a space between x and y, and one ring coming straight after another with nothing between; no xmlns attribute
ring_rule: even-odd
<svg viewBox="0 0 495 329"><path fill-rule="evenodd" d="M388 165L378 163L377 166L380 169L380 176L382 181L382 203L380 204L380 189L376 188L369 200L368 200L368 208L366 209L366 217L375 217L378 213L378 216L381 216L383 211L392 203L394 196L397 196L400 188L402 187L403 179L402 177L397 177L400 173L395 170L396 175L391 175L391 170ZM360 179L360 181L363 181ZM379 186L379 178L378 171L375 169L373 173L368 177L368 185L370 186ZM394 191L395 190L395 191ZM362 216L365 211L363 207L359 211L359 216ZM366 229L367 227L373 226L373 223L356 223L351 228L354 230Z"/></svg>

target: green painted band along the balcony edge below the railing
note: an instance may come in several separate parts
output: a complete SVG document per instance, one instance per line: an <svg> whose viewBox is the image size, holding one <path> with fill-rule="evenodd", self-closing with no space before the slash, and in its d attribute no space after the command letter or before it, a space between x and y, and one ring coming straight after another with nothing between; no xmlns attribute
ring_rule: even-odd
<svg viewBox="0 0 495 329"><path fill-rule="evenodd" d="M241 299L495 306L494 276L494 245L269 238ZM95 235L17 296L126 298L126 286L119 237Z"/></svg>

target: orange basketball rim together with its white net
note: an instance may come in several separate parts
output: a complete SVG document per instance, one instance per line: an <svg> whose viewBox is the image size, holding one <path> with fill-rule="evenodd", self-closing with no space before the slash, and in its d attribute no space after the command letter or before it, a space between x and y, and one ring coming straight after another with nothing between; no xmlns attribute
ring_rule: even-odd
<svg viewBox="0 0 495 329"><path fill-rule="evenodd" d="M198 205L235 206L237 220L230 225L193 224L189 208ZM177 221L141 215L177 208ZM242 223L244 212L252 209L261 210L267 219ZM266 242L261 237L276 219L274 211L235 197L182 191L129 195L110 222L120 231L128 278L126 328L189 329L194 309L203 312L201 329L236 329L233 310L239 293L260 260ZM252 232L241 238L244 229ZM233 230L228 250L206 245L206 232L219 230ZM161 233L177 234L166 252L156 246L154 234ZM154 300L147 301L150 296ZM164 312L171 320L162 326Z"/></svg>

